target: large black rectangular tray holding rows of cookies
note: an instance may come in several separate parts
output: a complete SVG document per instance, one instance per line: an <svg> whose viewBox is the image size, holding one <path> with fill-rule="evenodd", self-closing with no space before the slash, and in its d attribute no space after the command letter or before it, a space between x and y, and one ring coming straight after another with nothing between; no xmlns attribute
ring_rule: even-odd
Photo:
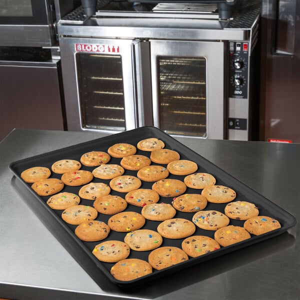
<svg viewBox="0 0 300 300"><path fill-rule="evenodd" d="M241 200L241 201L249 201L255 204L258 209L259 209L259 215L267 215L270 217L273 217L277 219L280 224L281 228L278 228L273 231L269 231L267 233L261 234L261 235L252 235L249 239L246 239L241 242L237 242L235 244L232 244L230 246L225 246L225 247L220 247L220 249L208 252L206 254L200 255L198 257L192 258L189 257L188 260L185 260L183 262L180 262L178 264L174 264L170 267L161 269L161 270L155 270L153 269L153 272L145 275L143 277L139 277L130 281L121 281L115 279L111 274L110 274L110 268L113 266L114 263L108 263L108 262L101 262L99 261L93 254L92 250L97 245L98 243L105 241L105 240L121 240L123 241L124 236L127 234L126 232L117 232L110 230L109 235L101 240L101 241L95 241L95 242L85 242L80 240L75 234L74 230L76 225L71 225L66 222L64 222L61 218L61 213L62 210L54 210L51 209L47 204L46 201L50 196L39 196L37 195L33 189L31 189L31 184L32 183L26 183L23 181L23 179L20 177L20 174L23 170L34 167L34 166L45 166L51 169L51 165L60 159L75 159L80 161L80 157L82 154L85 152L89 151L104 151L107 152L107 149L109 146L115 144L115 143L130 143L136 146L137 142L141 139L144 138L149 138L149 137L157 137L161 139L164 143L165 146L164 148L168 149L173 149L177 151L180 154L180 159L188 159L192 160L197 163L198 165L198 170L197 172L206 172L212 174L216 178L216 183L218 185L225 185L228 186L232 189L235 190L236 192L236 197L233 201ZM201 140L199 140L199 143ZM136 154L142 154L145 156L150 157L150 152L149 151L141 151L137 149ZM121 158L114 158L111 157L110 161L108 163L115 163L119 164ZM157 164L151 162L151 164ZM165 165L164 165L165 166ZM81 169L84 170L89 170L92 171L95 167L87 167L82 165ZM296 219L294 218L293 215L285 211L284 209L280 208L273 202L271 202L269 199L265 198L264 196L260 195L244 183L240 182L224 170L220 169L198 153L194 152L190 148L186 147L182 143L178 142L175 140L173 137L170 135L164 133L163 131L155 128L155 127L140 127L137 129L133 129L130 131L125 131L105 137L101 137L95 140L91 140L88 142L84 143L79 143L73 146L65 147L62 149L58 149L55 151L43 153L40 155L36 155L33 157L25 158L22 160L18 160L15 162L11 162L9 165L9 169L12 172L13 175L16 176L16 178L21 182L22 186L30 192L30 195L32 194L32 198L30 201L37 207L38 211L38 216L41 219L47 219L48 223L51 224L49 227L49 230L52 230L51 228L54 228L56 233L57 239L61 242L62 240L66 242L61 242L63 246L70 252L71 255L74 256L76 261L85 269L87 273L93 277L93 279L100 284L100 278L101 276L96 275L95 273L97 272L103 272L108 279L110 279L112 282L119 286L133 286L135 284L140 284L143 282L148 282L150 279L158 278L160 276L167 275L171 272L179 271L180 269L189 267L191 265L195 265L198 263L201 263L205 260L211 259L213 257L223 255L225 253L240 249L245 246L249 246L251 244L257 243L259 241L265 240L267 238L276 236L282 232L285 232L288 228L292 227L293 225L296 224ZM131 170L125 170L124 175L134 175L136 176L137 171L131 171ZM51 173L50 178L60 178L61 174L56 174L54 172ZM174 179L179 179L183 181L183 178L185 176L179 176L179 175L173 175L169 174L168 178L174 178ZM99 178L93 178L92 182L104 182L109 185L110 180L103 180ZM140 186L141 188L151 188L153 182L146 182L142 181L142 185ZM68 186L64 185L64 188L61 190L62 191L69 191L75 194L78 194L78 191L81 186ZM199 189L193 189L187 187L185 193L200 193L201 190ZM126 193L121 193L117 192L114 190L111 190L110 194L113 195L119 195L121 197L125 197ZM164 202L164 203L171 203L172 198L171 197L161 197L159 198L158 202ZM92 206L93 200L86 200L82 199L79 204L83 205L89 205ZM204 210L218 210L221 212L224 212L224 207L227 203L223 204L217 204L217 203L210 203L207 202L207 206L204 208ZM139 212L141 211L142 207L135 206L128 204L127 208L124 211L136 211ZM35 211L36 213L36 211ZM181 212L181 211L176 211L176 214L174 217L176 218L185 218L188 220L192 219L194 213L192 212ZM98 216L96 220L101 220L105 223L107 223L108 218L111 215L105 215L102 213L98 213ZM156 230L157 225L159 224L159 221L151 221L151 220L146 220L144 226L141 229L152 229ZM243 226L244 221L241 220L236 220L236 219L230 219L229 225L237 225L237 226ZM58 232L58 236L57 236ZM196 231L193 233L193 235L206 235L209 237L214 236L213 230L204 230L196 226ZM61 238L59 238L61 237ZM66 238L67 237L67 238ZM184 238L179 238L179 239L169 239L169 238L164 238L163 237L163 242L161 246L176 246L181 248L181 242L183 241ZM130 254L128 258L140 258L143 260L148 260L148 255L150 251L135 251L135 250L130 250Z"/></svg>

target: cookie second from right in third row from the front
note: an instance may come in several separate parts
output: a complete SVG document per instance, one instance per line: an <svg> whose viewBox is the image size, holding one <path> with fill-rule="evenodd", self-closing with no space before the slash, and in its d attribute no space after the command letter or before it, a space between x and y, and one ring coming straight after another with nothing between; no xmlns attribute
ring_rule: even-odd
<svg viewBox="0 0 300 300"><path fill-rule="evenodd" d="M179 211L196 212L206 207L207 200L200 194L183 194L173 198L172 205Z"/></svg>

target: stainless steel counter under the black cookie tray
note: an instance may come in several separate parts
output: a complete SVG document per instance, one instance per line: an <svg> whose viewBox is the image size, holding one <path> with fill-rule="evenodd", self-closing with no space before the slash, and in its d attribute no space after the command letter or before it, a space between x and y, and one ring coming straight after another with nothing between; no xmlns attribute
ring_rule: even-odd
<svg viewBox="0 0 300 300"><path fill-rule="evenodd" d="M98 286L52 235L10 162L104 136L15 129L0 143L0 297L13 299L300 299L300 225L246 248L122 289ZM177 138L300 218L300 144ZM30 206L30 207L29 207Z"/></svg>

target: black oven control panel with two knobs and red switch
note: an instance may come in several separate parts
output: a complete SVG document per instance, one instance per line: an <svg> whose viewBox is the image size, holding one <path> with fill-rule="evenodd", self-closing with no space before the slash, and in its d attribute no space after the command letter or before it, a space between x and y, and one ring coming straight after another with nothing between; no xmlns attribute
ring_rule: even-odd
<svg viewBox="0 0 300 300"><path fill-rule="evenodd" d="M249 43L229 42L229 97L248 98Z"/></svg>

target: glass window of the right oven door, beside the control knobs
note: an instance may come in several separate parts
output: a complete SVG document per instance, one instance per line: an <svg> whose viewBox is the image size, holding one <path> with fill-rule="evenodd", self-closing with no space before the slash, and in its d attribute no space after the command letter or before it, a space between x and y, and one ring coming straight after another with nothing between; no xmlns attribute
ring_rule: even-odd
<svg viewBox="0 0 300 300"><path fill-rule="evenodd" d="M158 56L157 63L160 129L206 137L206 59Z"/></svg>

